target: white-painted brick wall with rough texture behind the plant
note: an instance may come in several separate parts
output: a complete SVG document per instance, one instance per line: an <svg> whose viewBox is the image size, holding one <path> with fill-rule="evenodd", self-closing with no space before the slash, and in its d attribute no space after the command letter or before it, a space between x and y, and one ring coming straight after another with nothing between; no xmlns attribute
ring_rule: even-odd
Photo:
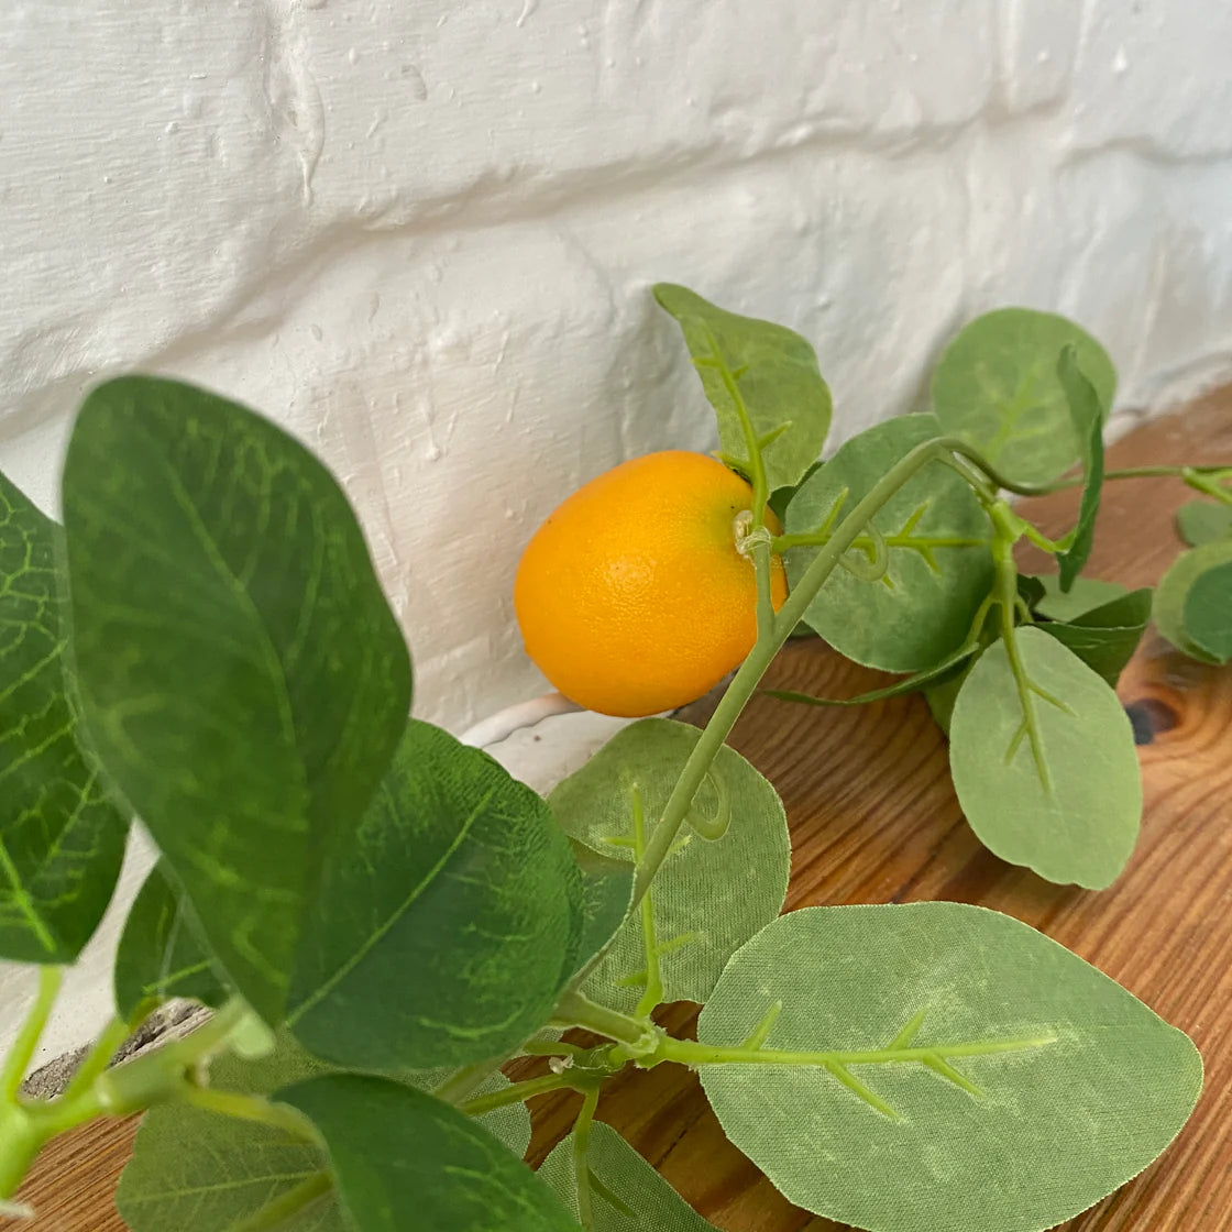
<svg viewBox="0 0 1232 1232"><path fill-rule="evenodd" d="M1122 407L1232 371L1230 60L1222 0L5 0L0 468L53 508L122 370L262 408L460 727L542 687L540 519L711 442L653 281L806 334L840 436L1005 303Z"/></svg>

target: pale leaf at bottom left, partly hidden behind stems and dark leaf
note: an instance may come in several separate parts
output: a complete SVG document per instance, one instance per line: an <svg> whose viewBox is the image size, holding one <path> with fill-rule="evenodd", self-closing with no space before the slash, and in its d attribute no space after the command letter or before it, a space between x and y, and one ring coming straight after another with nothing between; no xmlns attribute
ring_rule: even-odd
<svg viewBox="0 0 1232 1232"><path fill-rule="evenodd" d="M259 1061L219 1057L211 1066L214 1090L272 1095L278 1088L334 1071L310 1057L288 1036ZM437 1085L442 1073L400 1074L420 1090ZM499 1072L476 1094L509 1085ZM478 1119L515 1157L525 1154L531 1117L525 1104L510 1104ZM137 1131L133 1159L124 1169L116 1205L133 1232L230 1232L243 1218L329 1167L325 1152L285 1130L241 1121L187 1104L163 1104L148 1111ZM352 1232L333 1191L280 1232Z"/></svg>

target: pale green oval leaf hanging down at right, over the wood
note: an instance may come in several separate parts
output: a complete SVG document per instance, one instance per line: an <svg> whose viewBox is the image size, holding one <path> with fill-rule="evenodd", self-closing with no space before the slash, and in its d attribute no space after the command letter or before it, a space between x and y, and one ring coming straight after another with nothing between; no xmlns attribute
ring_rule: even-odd
<svg viewBox="0 0 1232 1232"><path fill-rule="evenodd" d="M950 770L981 841L1048 881L1103 890L1133 851L1142 782L1130 721L1108 683L1039 628L971 669Z"/></svg>

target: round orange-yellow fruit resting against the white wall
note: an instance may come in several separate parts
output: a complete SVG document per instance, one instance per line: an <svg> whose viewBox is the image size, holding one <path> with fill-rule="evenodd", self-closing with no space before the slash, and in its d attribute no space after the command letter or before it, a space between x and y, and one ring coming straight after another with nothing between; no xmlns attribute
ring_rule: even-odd
<svg viewBox="0 0 1232 1232"><path fill-rule="evenodd" d="M680 450L593 479L522 553L514 606L526 653L567 697L604 715L700 697L756 637L753 562L736 547L752 496L721 462ZM771 595L777 610L787 595L777 557Z"/></svg>

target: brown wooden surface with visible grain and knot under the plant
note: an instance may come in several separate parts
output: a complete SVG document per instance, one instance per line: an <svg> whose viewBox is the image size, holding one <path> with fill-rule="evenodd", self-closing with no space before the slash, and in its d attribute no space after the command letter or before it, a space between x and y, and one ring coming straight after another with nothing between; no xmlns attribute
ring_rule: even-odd
<svg viewBox="0 0 1232 1232"><path fill-rule="evenodd" d="M1226 460L1232 388L1111 451L1114 466ZM1092 574L1127 585L1157 582L1180 546L1172 514L1191 496L1169 479L1110 484ZM1056 535L1076 506L1077 495L1066 493L1023 508ZM790 647L769 683L850 696L878 679L809 642ZM1188 1031L1206 1063L1194 1117L1157 1164L1064 1227L1221 1232L1232 1230L1232 670L1190 663L1151 631L1120 694L1153 738L1140 749L1142 837L1129 870L1103 893L1048 885L979 845L958 811L944 742L918 697L850 711L758 699L732 743L787 807L795 848L788 908L917 899L993 907L1069 946ZM687 1030L692 1018L687 1007L673 1007L664 1021ZM532 1163L568 1132L577 1106L570 1095L532 1105ZM779 1196L727 1143L696 1078L679 1067L621 1076L599 1115L721 1228L838 1227ZM53 1145L23 1190L38 1210L23 1227L120 1232L111 1194L132 1132L132 1122L102 1124Z"/></svg>

